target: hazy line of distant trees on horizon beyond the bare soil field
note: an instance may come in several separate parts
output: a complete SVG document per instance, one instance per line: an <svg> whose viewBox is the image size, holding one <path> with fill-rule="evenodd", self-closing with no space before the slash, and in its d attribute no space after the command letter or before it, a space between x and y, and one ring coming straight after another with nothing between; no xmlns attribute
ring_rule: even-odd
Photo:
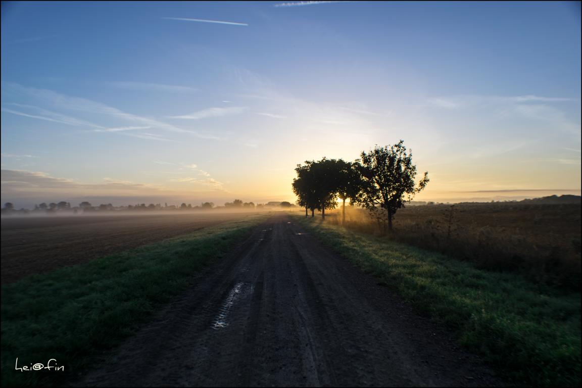
<svg viewBox="0 0 582 388"><path fill-rule="evenodd" d="M254 204L254 202L243 202L242 200L234 200L226 202L223 206L216 206L214 202L202 202L200 205L186 204L168 205L162 204L136 204L127 206L113 206L112 204L100 204L93 206L90 202L83 201L79 206L72 207L70 202L42 202L34 205L34 209L15 209L12 202L6 202L2 208L2 215L23 215L35 213L91 213L91 212L115 212L115 211L199 211L210 209L243 209L243 210L266 210L274 208L291 208L295 205L287 201L271 201L266 204Z"/></svg>

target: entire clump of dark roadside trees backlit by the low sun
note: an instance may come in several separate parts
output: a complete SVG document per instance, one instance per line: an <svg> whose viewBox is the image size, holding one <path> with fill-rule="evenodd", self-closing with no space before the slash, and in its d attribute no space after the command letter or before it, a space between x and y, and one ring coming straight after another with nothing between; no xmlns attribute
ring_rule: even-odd
<svg viewBox="0 0 582 388"><path fill-rule="evenodd" d="M392 229L392 217L399 208L411 201L415 194L428 183L428 172L415 183L417 171L412 163L412 152L407 151L402 140L385 147L378 145L369 152L362 151L360 159L346 162L343 159L322 158L297 165L297 177L293 179L293 193L297 204L307 210L321 211L337 206L338 198L343 202L342 222L345 222L345 203L358 204L368 209L381 224L385 233L386 224Z"/></svg>

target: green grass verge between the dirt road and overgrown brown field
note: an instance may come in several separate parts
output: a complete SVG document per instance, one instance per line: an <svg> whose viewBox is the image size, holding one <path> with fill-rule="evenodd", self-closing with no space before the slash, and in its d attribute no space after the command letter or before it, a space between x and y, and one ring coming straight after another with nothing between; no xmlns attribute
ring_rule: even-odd
<svg viewBox="0 0 582 388"><path fill-rule="evenodd" d="M456 329L502 375L535 386L580 386L580 293L488 272L443 254L294 218L315 237Z"/></svg>

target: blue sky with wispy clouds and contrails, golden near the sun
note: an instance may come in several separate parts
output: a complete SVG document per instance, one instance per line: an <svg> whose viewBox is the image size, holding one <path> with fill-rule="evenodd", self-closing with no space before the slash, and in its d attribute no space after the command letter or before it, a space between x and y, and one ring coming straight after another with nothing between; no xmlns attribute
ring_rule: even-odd
<svg viewBox="0 0 582 388"><path fill-rule="evenodd" d="M294 202L298 163L400 139L418 201L580 195L579 2L2 2L1 32L16 208Z"/></svg>

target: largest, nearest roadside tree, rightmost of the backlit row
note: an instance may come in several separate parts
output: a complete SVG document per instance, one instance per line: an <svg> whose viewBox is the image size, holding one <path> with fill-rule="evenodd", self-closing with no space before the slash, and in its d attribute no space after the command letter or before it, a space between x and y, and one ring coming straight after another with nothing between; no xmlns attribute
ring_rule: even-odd
<svg viewBox="0 0 582 388"><path fill-rule="evenodd" d="M416 186L412 152L406 151L402 140L390 147L377 145L367 154L362 151L360 156L361 192L356 202L370 211L385 234L386 222L388 229L392 230L392 218L396 211L427 186L428 172Z"/></svg>

